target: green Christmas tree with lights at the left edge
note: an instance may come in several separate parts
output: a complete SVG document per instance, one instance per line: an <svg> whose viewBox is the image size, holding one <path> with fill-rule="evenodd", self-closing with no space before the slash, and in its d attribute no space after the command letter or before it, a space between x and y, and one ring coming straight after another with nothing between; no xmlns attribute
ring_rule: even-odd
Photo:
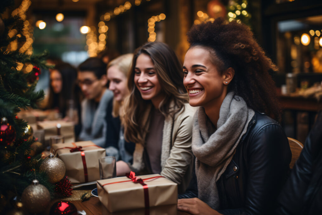
<svg viewBox="0 0 322 215"><path fill-rule="evenodd" d="M34 89L39 67L48 68L47 54L32 55L24 47L29 39L25 16L13 13L3 17L5 10L13 6L13 0L2 0L0 4L0 200L21 196L34 179L51 194L54 190L46 173L39 171L41 154L30 155L34 142L30 126L16 117L21 109L36 108L44 97L43 90Z"/></svg>

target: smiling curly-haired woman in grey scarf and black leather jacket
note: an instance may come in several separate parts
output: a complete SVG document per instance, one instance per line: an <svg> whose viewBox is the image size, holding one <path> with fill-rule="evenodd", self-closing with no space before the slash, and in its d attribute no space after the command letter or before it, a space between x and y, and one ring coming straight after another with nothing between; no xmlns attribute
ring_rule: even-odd
<svg viewBox="0 0 322 215"><path fill-rule="evenodd" d="M198 198L191 214L273 214L291 160L275 85L249 27L223 18L194 25L183 65L194 115L192 151ZM271 118L272 117L272 118Z"/></svg>

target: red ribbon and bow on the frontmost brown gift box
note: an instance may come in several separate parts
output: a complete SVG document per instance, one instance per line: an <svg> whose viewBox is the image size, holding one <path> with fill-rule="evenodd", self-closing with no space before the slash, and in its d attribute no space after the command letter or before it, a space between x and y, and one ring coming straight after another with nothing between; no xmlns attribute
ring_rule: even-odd
<svg viewBox="0 0 322 215"><path fill-rule="evenodd" d="M143 186L143 191L144 191L144 205L145 205L145 214L148 215L149 214L149 207L150 207L150 202L149 202L149 192L148 192L148 186L146 183L144 183L144 181L150 180L150 179L155 179L155 178L165 178L163 176L154 176L151 178L146 178L146 179L141 179L137 176L135 176L135 172L130 172L130 173L126 173L126 177L128 177L131 180L127 180L127 181L117 181L117 182L112 182L112 183L107 183L107 184L103 184L102 187L104 187L105 185L108 184L116 184L116 183L122 183L122 182L128 182L128 181L132 181L134 183L140 183Z"/></svg>

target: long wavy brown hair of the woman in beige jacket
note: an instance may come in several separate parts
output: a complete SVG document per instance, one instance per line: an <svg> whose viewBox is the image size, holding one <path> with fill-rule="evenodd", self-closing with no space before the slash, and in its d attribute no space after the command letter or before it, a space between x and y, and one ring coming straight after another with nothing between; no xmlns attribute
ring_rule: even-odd
<svg viewBox="0 0 322 215"><path fill-rule="evenodd" d="M144 145L144 137L147 128L144 125L144 113L150 100L144 100L134 83L135 66L137 57L140 54L147 54L156 71L160 82L162 93L165 98L159 104L159 110L163 115L175 114L184 108L189 102L188 94L183 85L182 64L175 52L165 43L150 42L137 48L134 52L132 67L128 74L129 96L124 100L124 137L128 142L141 143ZM170 103L173 104L170 108Z"/></svg>

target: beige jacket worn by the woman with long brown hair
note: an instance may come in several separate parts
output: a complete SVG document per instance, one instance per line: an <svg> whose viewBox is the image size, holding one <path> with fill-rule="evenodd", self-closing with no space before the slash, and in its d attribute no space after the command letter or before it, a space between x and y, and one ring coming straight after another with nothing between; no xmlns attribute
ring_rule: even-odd
<svg viewBox="0 0 322 215"><path fill-rule="evenodd" d="M150 113L151 106L147 108ZM193 154L191 151L192 124L195 108L185 104L184 110L179 111L173 117L165 117L161 152L161 175L176 182L178 192L183 193L189 185ZM146 116L146 126L149 126L149 117ZM144 146L137 143L133 153L132 169L140 172L144 169Z"/></svg>

